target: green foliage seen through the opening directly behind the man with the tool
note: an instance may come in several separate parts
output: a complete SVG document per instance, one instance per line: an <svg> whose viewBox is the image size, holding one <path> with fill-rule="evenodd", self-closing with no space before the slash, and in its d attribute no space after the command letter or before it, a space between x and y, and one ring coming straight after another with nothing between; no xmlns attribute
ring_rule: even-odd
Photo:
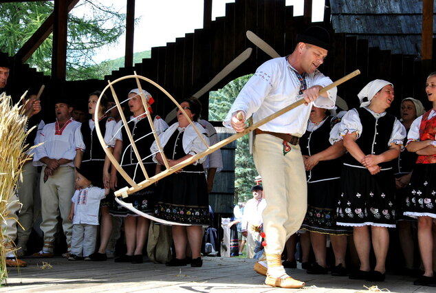
<svg viewBox="0 0 436 293"><path fill-rule="evenodd" d="M228 85L209 94L209 120L222 121L232 103L252 74L232 80ZM248 135L237 140L235 155L235 203L246 202L252 198L250 192L254 177L259 175L249 152Z"/></svg>

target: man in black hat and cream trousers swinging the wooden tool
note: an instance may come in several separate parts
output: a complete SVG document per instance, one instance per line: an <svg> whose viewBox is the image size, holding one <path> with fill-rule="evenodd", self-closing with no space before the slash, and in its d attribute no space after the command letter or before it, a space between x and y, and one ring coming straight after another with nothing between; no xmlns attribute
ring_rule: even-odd
<svg viewBox="0 0 436 293"><path fill-rule="evenodd" d="M262 120L291 105L305 100L305 105L263 124L255 130L254 163L262 177L267 202L263 210L265 232L265 283L274 287L300 288L304 282L288 276L281 263L286 240L301 226L307 209L305 167L298 139L305 133L312 105L332 109L337 89L319 95L331 84L330 78L318 71L331 48L327 30L318 26L298 34L292 54L274 58L261 65L243 87L224 120L226 127L241 132L246 120ZM242 120L237 118L238 114ZM259 270L256 270L259 272Z"/></svg>

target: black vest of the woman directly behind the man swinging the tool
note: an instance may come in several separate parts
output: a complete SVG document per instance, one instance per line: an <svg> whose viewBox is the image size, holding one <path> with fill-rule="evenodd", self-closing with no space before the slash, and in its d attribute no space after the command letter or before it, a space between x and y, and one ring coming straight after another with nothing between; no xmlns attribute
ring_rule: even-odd
<svg viewBox="0 0 436 293"><path fill-rule="evenodd" d="M324 151L331 146L329 142L331 120L334 117L329 116L315 131L306 131L300 138L300 147L302 155L314 155ZM342 158L335 160L320 161L311 171L306 171L307 182L326 180L340 177L342 167Z"/></svg>

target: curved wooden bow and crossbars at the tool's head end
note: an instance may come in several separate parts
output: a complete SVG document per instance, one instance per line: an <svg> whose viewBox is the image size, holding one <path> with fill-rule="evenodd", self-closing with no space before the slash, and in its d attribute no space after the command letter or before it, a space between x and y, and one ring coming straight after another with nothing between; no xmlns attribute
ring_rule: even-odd
<svg viewBox="0 0 436 293"><path fill-rule="evenodd" d="M115 83L118 83L121 80L126 80L129 78L135 78L136 81L136 85L138 86L138 89L140 90L140 96L141 96L141 100L142 100L142 105L144 105L144 114L146 115L146 118L148 119L148 122L151 126L152 129L152 133L153 137L157 143L157 148L158 148L158 153L160 153L162 155L162 159L164 161L164 165L166 167L166 171L162 172L164 173L162 175L162 173L154 175L153 177L149 176L149 174L147 174L145 166L143 161L146 158L142 158L140 155L140 152L138 151L138 148L135 144L135 142L138 142L138 140L134 140L133 139L133 135L128 127L128 123L129 121L127 121L126 117L124 116L124 113L122 111L122 103L126 103L128 102L129 99L127 100L123 100L122 102L120 102L120 100L118 100L118 96L115 92L115 89L113 88L113 85ZM165 155L164 155L164 151L162 148L162 144L160 143L160 140L157 136L156 130L155 130L155 125L153 123L153 119L151 118L150 115L150 111L149 111L149 103L147 102L146 96L144 96L144 92L142 91L142 85L140 83L140 80L144 80L147 83L150 83L151 85L154 85L155 87L157 87L158 89L160 89L160 91L162 91L166 96L168 96L168 98L170 98L173 103L175 104L175 106L177 106L177 108L182 111L183 115L186 117L186 119L188 119L189 123L191 125L193 125L192 120L190 120L189 116L186 114L186 112L184 111L184 109L182 107L180 107L179 103L173 98L173 96L171 96L170 94L168 94L168 91L166 91L163 87L161 87L160 85L158 85L157 83L155 83L153 80L150 80L149 78L146 78L144 76L139 76L138 74L136 74L136 72L134 72L133 75L129 75L129 76L123 76L121 78L118 78L116 80L113 81L108 81L108 85L105 87L105 89L103 89L102 93L100 94L100 97L98 97L98 101L97 101L97 105L96 105L96 109L100 109L100 101L101 98L103 96L103 94L105 94L105 92L107 90L111 90L111 94L113 96L113 99L116 102L116 107L118 109L118 111L120 112L120 116L121 116L121 120L122 120L122 127L124 127L126 133L127 133L127 137L129 138L129 143L133 149L133 153L135 153L135 157L138 160L137 163L137 169L140 169L140 171L142 171L142 173L144 174L145 180L143 180L142 182L135 182L134 178L132 178L129 174L126 173L126 171L124 171L124 169L122 169L122 166L120 165L120 163L116 160L116 158L113 156L113 154L111 153L111 151L109 151L108 147L107 147L107 143L105 142L104 136L105 133L101 133L100 130L100 126L98 123L96 123L96 133L98 136L98 140L100 141L100 144L102 145L102 148L105 150L105 153L107 155L107 157L109 158L109 160L111 160L111 163L113 164L113 166L115 166L115 168L117 169L117 171L120 173L120 175L122 175L122 177L124 178L124 180L127 181L127 183L129 183L130 186L124 186L122 188L120 188L118 191L115 192L115 195L117 197L127 197L129 194L131 193L135 193L137 191L142 190L143 188L146 188L147 186L150 186L151 184L153 184L154 182L157 182L158 180L162 179L163 177L166 177L172 173L174 173L175 171L178 171L179 169L182 169L184 166L191 164L177 164L176 166L170 167L168 164L168 160L166 159ZM98 117L98 111L96 111L96 113L94 113L94 120L98 121L100 117ZM206 145L206 148L208 148L208 143L206 142L206 140L204 140L203 135L201 135L201 133L199 133L197 127L193 127L193 129L195 129L195 132L197 133L197 135L199 136L199 138L201 138L202 142ZM118 131L121 131L121 129L119 129ZM123 140L126 140L126 138L123 138ZM126 142L124 142L126 143ZM153 154L152 154L153 155ZM207 154L205 154L207 155ZM205 156L203 155L203 156ZM147 157L148 158L148 157ZM199 158L197 158L197 160L199 160ZM179 166L180 165L180 166Z"/></svg>

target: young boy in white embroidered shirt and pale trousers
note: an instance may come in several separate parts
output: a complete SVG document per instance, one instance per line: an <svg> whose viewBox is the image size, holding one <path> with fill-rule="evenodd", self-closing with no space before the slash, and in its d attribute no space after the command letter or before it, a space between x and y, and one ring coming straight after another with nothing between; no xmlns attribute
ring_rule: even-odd
<svg viewBox="0 0 436 293"><path fill-rule="evenodd" d="M109 188L92 186L92 174L76 167L77 190L72 197L71 211L68 219L73 221L72 248L69 261L85 259L96 249L98 226L98 209L100 199L105 198Z"/></svg>

